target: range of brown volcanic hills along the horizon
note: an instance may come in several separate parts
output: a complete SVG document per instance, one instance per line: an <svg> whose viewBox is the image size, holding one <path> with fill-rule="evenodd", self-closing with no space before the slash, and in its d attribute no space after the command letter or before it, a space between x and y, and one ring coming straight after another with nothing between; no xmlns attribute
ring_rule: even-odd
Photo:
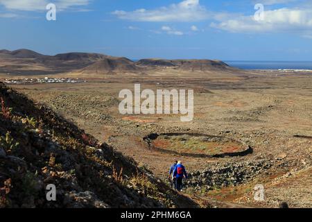
<svg viewBox="0 0 312 222"><path fill-rule="evenodd" d="M60 53L46 56L28 49L0 50L0 73L12 75L137 73L153 69L182 71L211 71L233 69L219 60L165 60L142 59L132 62L128 58L107 56L100 53Z"/></svg>

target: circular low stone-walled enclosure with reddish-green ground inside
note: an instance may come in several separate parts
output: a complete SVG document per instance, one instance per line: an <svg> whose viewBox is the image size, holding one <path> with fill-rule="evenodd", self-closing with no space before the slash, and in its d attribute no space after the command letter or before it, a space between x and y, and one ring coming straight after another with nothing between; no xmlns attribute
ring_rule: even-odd
<svg viewBox="0 0 312 222"><path fill-rule="evenodd" d="M252 148L243 142L198 133L153 133L144 137L144 141L157 151L191 157L225 157L252 153Z"/></svg>

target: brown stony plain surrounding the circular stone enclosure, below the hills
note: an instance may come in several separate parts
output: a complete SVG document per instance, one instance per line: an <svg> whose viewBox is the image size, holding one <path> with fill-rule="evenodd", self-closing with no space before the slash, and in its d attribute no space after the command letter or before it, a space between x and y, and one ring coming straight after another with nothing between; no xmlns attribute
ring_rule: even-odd
<svg viewBox="0 0 312 222"><path fill-rule="evenodd" d="M195 72L190 78L187 73L159 71L146 78L112 77L77 85L14 87L123 155L133 157L140 167L164 182L171 163L182 160L191 175L184 192L198 203L277 207L286 201L291 207L311 207L311 81L311 75L297 73ZM132 89L137 82L148 89L195 89L194 120L182 123L180 115L172 114L119 114L119 91ZM253 152L239 157L164 153L144 142L151 133L227 137L248 144ZM261 202L253 198L257 184L265 188L265 200Z"/></svg>

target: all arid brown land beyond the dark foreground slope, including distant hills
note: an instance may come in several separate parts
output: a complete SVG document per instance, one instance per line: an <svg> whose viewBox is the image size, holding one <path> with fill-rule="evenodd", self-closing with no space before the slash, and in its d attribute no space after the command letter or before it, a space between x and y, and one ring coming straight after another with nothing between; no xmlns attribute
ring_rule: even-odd
<svg viewBox="0 0 312 222"><path fill-rule="evenodd" d="M18 53L1 51L1 80L83 80L10 87L49 105L161 180L174 160L182 160L191 175L183 193L193 200L218 207L277 207L283 201L312 207L312 72L246 71L211 60ZM180 121L180 114L120 114L119 92L133 90L135 83L142 89L193 89L193 121ZM244 148L248 152L240 153ZM254 200L259 184L262 201Z"/></svg>

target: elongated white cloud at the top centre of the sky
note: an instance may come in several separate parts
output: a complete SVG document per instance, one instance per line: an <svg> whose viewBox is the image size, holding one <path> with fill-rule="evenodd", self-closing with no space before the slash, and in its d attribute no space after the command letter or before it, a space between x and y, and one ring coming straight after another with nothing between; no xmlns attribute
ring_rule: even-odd
<svg viewBox="0 0 312 222"><path fill-rule="evenodd" d="M209 17L209 12L200 5L199 0L184 0L154 10L144 8L132 12L116 10L112 14L119 17L119 19L136 22L193 22L202 21Z"/></svg>

